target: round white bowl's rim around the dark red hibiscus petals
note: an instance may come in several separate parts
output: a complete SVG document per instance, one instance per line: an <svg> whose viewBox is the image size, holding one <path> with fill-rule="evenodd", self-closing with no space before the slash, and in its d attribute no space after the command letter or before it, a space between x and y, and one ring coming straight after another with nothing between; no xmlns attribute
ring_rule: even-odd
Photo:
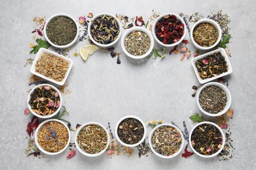
<svg viewBox="0 0 256 170"><path fill-rule="evenodd" d="M184 24L184 34L182 35L181 39L173 44L163 44L163 42L161 42L158 37L156 37L156 24L158 23L159 20L161 20L161 18L168 16L168 15L174 15L176 16L177 20L180 20L182 22L182 24ZM154 22L153 27L152 27L152 33L153 33L153 37L156 40L156 42L158 42L158 44L160 44L161 46L164 47L173 47L176 46L177 44L181 43L181 41L184 39L184 37L186 36L186 24L184 22L184 20L181 18L181 16L177 15L177 14L173 14L173 13L166 13L166 14L162 14L160 15Z"/></svg>

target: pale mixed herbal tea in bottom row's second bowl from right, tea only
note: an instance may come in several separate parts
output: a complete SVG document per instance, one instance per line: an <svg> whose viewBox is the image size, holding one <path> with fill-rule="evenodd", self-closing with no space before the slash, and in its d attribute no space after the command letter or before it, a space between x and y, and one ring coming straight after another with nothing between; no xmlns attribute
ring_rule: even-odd
<svg viewBox="0 0 256 170"><path fill-rule="evenodd" d="M181 148L182 137L175 127L161 126L152 135L152 146L158 154L172 156Z"/></svg>

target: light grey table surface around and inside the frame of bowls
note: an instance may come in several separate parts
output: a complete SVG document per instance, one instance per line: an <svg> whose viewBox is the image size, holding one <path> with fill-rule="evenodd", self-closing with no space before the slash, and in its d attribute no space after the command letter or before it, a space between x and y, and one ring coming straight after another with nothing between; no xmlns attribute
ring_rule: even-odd
<svg viewBox="0 0 256 170"><path fill-rule="evenodd" d="M0 124L1 151L0 169L255 169L255 1L1 1L0 3ZM24 115L28 91L30 66L24 67L32 42L34 16L49 16L65 12L78 18L89 12L98 14L126 14L144 16L152 10L163 14L173 12L192 14L201 12L205 16L212 10L223 10L230 16L232 43L228 44L234 72L228 78L232 94L234 118L230 130L234 139L234 158L219 161L218 158L203 159L196 155L163 160L155 155L139 158L105 154L87 158L77 151L71 160L66 160L68 150L58 156L45 158L26 157L26 125L31 116ZM188 38L188 35L186 36ZM75 48L89 42L79 42ZM64 95L64 105L70 112L66 119L72 126L77 123L110 122L112 129L119 118L128 114L139 116L147 122L161 119L174 121L182 127L186 120L188 130L194 126L189 120L193 112L199 112L196 98L191 97L193 85L199 85L192 70L191 59L180 61L172 55L165 59L133 61L121 55L121 65L116 64L110 54L96 52L85 63L75 58L74 67L68 77L68 88L72 93ZM192 54L194 52L193 48ZM121 46L116 46L121 52ZM151 128L148 127L149 136ZM74 141L74 133L72 132ZM135 149L136 150L136 149Z"/></svg>

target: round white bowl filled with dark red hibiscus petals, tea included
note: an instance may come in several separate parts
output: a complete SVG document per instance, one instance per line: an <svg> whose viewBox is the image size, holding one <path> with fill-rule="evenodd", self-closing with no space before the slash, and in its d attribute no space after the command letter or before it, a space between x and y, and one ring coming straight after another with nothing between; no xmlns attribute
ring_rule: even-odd
<svg viewBox="0 0 256 170"><path fill-rule="evenodd" d="M153 24L152 33L158 44L173 47L181 43L186 35L186 24L177 14L167 13L159 16Z"/></svg>

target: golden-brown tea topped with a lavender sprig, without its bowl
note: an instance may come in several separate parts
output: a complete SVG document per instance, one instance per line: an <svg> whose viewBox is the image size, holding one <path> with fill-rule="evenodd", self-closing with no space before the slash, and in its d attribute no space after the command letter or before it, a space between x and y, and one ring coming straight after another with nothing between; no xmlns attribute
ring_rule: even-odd
<svg viewBox="0 0 256 170"><path fill-rule="evenodd" d="M48 152L58 152L68 144L68 129L60 122L47 122L37 133L39 145Z"/></svg>

